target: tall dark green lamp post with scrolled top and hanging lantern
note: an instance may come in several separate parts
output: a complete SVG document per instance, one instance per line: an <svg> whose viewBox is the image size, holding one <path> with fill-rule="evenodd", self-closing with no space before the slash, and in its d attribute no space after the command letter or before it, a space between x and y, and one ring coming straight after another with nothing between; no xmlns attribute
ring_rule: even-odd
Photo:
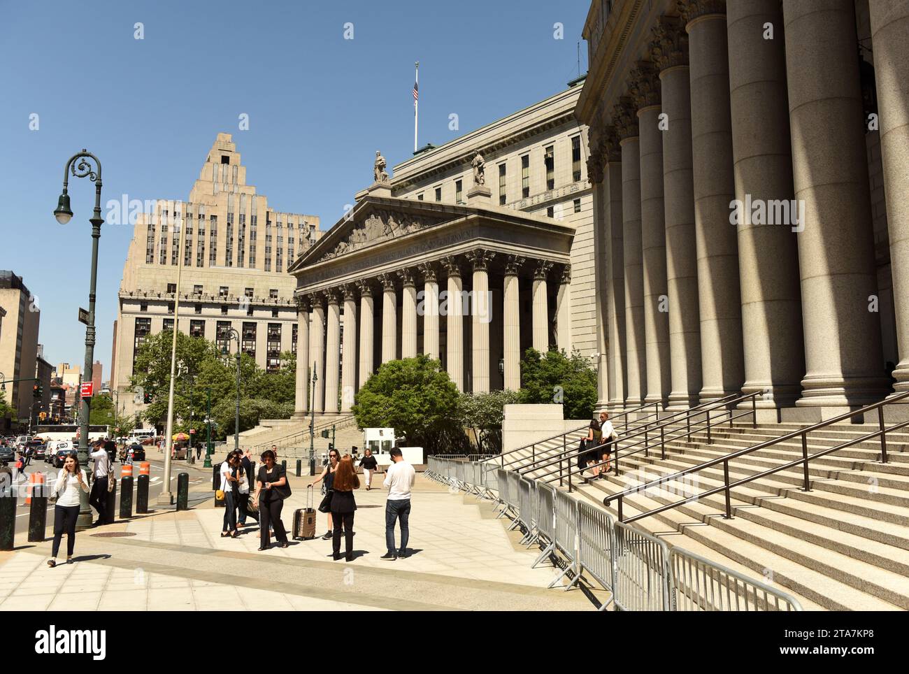
<svg viewBox="0 0 909 674"><path fill-rule="evenodd" d="M76 160L78 160L78 164L75 164ZM93 161L97 171L93 169ZM88 222L92 223L92 269L88 289L88 322L85 323L85 381L91 381L92 364L95 362L95 290L98 280L98 239L101 238L101 225L105 222L104 218L101 217L101 162L85 148L82 149L82 152L74 154L66 162L63 169L63 192L60 193L54 212L54 217L60 224L68 223L73 217L67 191L71 172L76 178L87 177L95 183L95 211L92 217L88 219ZM82 398L82 413L79 415L78 457L79 464L83 466L88 465L88 417L90 407L91 399ZM75 520L75 528L76 530L85 530L91 526L92 510L88 506L88 494L79 490L79 517Z"/></svg>

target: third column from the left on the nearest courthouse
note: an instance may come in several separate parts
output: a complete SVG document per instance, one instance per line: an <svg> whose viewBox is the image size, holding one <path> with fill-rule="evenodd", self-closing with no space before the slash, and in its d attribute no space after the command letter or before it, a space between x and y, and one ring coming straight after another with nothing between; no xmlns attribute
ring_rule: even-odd
<svg viewBox="0 0 909 674"><path fill-rule="evenodd" d="M644 258L641 250L641 162L634 104L622 96L614 108L622 147L622 243L624 254L625 403L637 407L646 395L644 350Z"/></svg>

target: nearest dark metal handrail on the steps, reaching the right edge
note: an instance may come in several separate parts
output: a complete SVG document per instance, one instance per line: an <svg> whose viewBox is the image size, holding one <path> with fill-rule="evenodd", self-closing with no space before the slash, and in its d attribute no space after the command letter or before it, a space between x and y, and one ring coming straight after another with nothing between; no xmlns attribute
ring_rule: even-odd
<svg viewBox="0 0 909 674"><path fill-rule="evenodd" d="M807 428L786 433L784 435L781 435L778 438L774 438L769 441L760 442L751 447L746 447L744 450L734 451L734 452L731 452L724 456L717 457L716 459L711 459L710 461L704 461L703 463L699 463L696 466L691 466L690 468L686 468L683 471L676 471L676 472L672 473L671 475L665 475L661 478L657 478L656 480L649 481L646 484L639 485L637 487L627 489L624 491L620 491L615 494L611 494L610 496L607 496L604 498L603 504L604 504L604 506L608 507L609 503L611 501L618 501L619 521L633 522L636 520L642 520L645 517L650 517L651 515L655 515L660 512L664 512L664 510L671 510L673 508L677 508L678 506L684 505L686 503L690 503L692 501L698 501L700 499L704 499L707 496L712 496L715 493L724 491L725 492L724 519L729 520L732 518L731 490L733 487L738 487L740 485L747 484L748 482L760 480L761 478L764 478L768 475L773 475L774 473L777 473L780 471L785 471L790 468L793 468L794 466L802 464L802 466L803 466L803 488L802 489L803 489L803 491L811 491L811 489L810 489L811 481L810 481L809 474L808 474L808 462L809 461L811 461L812 459L817 459L819 457L826 456L827 454L831 454L834 451L844 450L847 447L852 447L853 445L858 444L859 442L868 441L877 436L881 436L881 462L887 463L887 441L886 441L887 432L899 431L900 429L903 429L903 428L909 426L909 421L903 421L902 423L895 424L894 426L892 426L890 428L885 428L884 427L884 406L897 403L898 401L904 401L907 398L909 398L909 392L899 393L884 401L875 402L874 404L867 405L859 410L844 412L843 414L840 414L839 416L833 417L832 419L828 419L825 421L819 421L818 423L815 423L812 426L808 426ZM819 429L826 428L827 426L832 426L834 423L837 423L839 421L845 421L848 419L852 419L854 416L856 416L858 414L864 415L866 412L873 411L873 410L877 410L877 412L878 412L879 429L877 431L874 431L872 433L867 433L867 434L865 434L859 438L856 438L854 440L851 440L851 441L841 442L840 444L835 445L834 447L827 448L826 450L818 451L811 455L808 454L808 433L809 432L817 431ZM792 440L795 437L802 438L802 458L801 459L789 461L787 463L784 463L783 465L775 466L774 468L767 469L766 471L761 471L759 473L750 475L750 476L742 478L740 480L736 480L734 482L729 481L729 461L732 461L741 456L744 456L745 454L750 454L753 451L763 450L765 447L771 447L779 442ZM661 484L665 484L666 482L678 480L679 478L684 477L685 475L688 475L688 474L691 474L694 472L698 472L698 471L703 471L706 468L710 468L710 467L718 465L720 463L723 464L724 484L722 487L714 487L714 489L703 491L694 496L690 496L682 501L676 501L674 503L670 503L670 504L661 506L659 508L647 510L646 512L643 512L641 514L635 515L632 518L629 518L628 520L623 519L622 502L626 496L633 495L635 493L640 493L642 491L646 491L653 487L657 487Z"/></svg>

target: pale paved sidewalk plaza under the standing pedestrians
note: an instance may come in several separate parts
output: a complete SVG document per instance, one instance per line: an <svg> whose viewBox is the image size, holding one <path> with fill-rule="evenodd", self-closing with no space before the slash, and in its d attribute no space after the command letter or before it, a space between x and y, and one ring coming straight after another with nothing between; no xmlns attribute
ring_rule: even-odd
<svg viewBox="0 0 909 674"><path fill-rule="evenodd" d="M309 481L292 477L285 527L303 506ZM516 545L520 536L493 519L488 503L418 475L412 554L389 562L379 560L385 491L360 489L356 499L353 562L332 560L330 540L259 552L255 526L239 539L222 539L224 510L207 501L82 532L72 565L46 566L50 540L0 553L0 610L223 610L225 600L247 610L594 608L581 590L546 590L556 570L548 562L531 569L537 550ZM326 529L319 513L317 534Z"/></svg>

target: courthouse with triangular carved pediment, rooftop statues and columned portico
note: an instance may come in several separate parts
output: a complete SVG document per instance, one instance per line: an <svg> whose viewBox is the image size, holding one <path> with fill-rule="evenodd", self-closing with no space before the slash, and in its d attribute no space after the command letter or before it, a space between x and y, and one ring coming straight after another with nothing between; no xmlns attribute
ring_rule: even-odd
<svg viewBox="0 0 909 674"><path fill-rule="evenodd" d="M378 366L425 353L458 389L520 388L531 346L597 349L581 80L373 183L299 257L298 414L349 411ZM456 299L455 299L456 298ZM305 363L305 364L304 364Z"/></svg>

